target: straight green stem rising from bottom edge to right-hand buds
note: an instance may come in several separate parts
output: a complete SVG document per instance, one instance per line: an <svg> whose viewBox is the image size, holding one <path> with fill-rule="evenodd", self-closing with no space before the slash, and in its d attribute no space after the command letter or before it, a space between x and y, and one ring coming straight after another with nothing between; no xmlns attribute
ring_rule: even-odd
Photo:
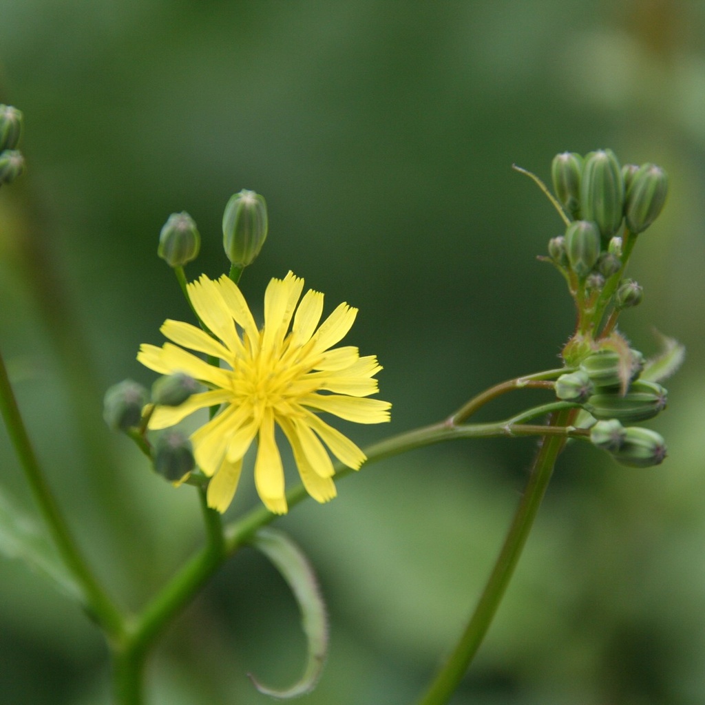
<svg viewBox="0 0 705 705"><path fill-rule="evenodd" d="M548 431L548 428L551 427L568 426L574 413L574 411L567 409L556 412L556 415L551 419L551 424L545 427L545 430ZM551 479L551 474L553 474L553 466L556 464L558 453L564 443L564 437L551 436L544 439L541 444L527 488L517 507L513 522L477 607L465 627L465 632L462 633L458 644L455 645L455 649L431 682L427 692L418 701L418 705L443 705L448 702L455 689L460 685L467 667L482 644L514 573Z"/></svg>

